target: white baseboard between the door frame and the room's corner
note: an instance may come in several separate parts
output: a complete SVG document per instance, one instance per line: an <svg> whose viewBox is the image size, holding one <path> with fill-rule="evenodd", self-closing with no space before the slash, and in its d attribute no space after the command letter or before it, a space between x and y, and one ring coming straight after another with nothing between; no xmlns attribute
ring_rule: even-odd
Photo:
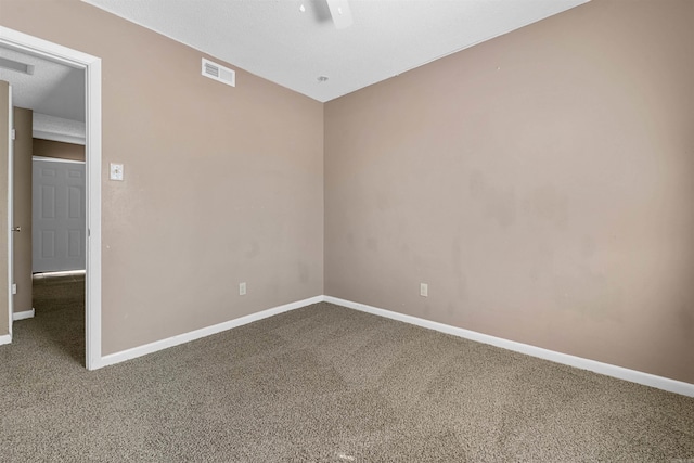
<svg viewBox="0 0 694 463"><path fill-rule="evenodd" d="M297 300L296 303L285 304L283 306L264 310L261 312L252 313L249 316L245 316L245 317L241 317L227 322L218 323L216 325L191 331L189 333L179 334L177 336L171 336L166 339L156 340L154 343L145 344L144 346L133 347L131 349L123 350L116 353L110 353L107 356L103 356L101 360L97 362L97 365L94 365L93 370L100 369L102 366L113 365L115 363L125 362L126 360L136 359L138 357L146 356L147 353L153 353L158 350L178 346L179 344L190 343L191 340L195 340L202 337L210 336L213 334L221 333L222 331L231 330L236 326L242 326L244 324L262 320L268 317L277 316L279 313L287 312L290 310L310 306L311 304L322 303L323 300L324 300L323 296L316 296L316 297L311 297L304 300Z"/></svg>

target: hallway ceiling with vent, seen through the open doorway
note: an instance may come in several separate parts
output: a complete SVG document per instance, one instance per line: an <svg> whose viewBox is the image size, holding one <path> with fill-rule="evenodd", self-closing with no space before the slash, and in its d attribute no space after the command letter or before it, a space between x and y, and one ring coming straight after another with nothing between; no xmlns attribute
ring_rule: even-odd
<svg viewBox="0 0 694 463"><path fill-rule="evenodd" d="M34 66L34 74L0 67L0 80L12 85L15 106L48 116L85 121L85 72L0 47L0 57Z"/></svg>

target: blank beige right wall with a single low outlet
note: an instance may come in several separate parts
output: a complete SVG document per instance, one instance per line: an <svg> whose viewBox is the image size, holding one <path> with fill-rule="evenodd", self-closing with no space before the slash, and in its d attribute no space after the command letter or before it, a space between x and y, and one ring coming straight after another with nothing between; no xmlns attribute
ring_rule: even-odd
<svg viewBox="0 0 694 463"><path fill-rule="evenodd" d="M693 24L596 0L327 103L325 293L694 383Z"/></svg>

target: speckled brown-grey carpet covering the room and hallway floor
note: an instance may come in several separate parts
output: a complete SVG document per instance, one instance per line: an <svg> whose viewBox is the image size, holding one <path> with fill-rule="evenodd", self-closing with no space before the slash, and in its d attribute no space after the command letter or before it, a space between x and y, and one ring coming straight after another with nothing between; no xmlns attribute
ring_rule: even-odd
<svg viewBox="0 0 694 463"><path fill-rule="evenodd" d="M330 304L88 372L82 291L0 347L3 462L694 462L693 398Z"/></svg>

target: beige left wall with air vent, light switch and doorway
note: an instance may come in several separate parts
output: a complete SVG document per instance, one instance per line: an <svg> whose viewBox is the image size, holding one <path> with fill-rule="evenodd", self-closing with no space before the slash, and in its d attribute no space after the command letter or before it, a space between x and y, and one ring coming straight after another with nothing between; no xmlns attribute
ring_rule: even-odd
<svg viewBox="0 0 694 463"><path fill-rule="evenodd" d="M102 59L102 353L323 293L320 103L241 69L236 88L207 79L202 53L79 0L0 11Z"/></svg>

